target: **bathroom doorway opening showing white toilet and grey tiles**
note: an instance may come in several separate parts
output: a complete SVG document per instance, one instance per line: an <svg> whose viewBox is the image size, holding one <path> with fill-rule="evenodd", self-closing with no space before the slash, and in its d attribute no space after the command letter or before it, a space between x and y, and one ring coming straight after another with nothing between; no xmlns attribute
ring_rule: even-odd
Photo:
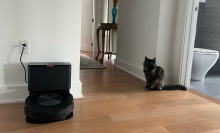
<svg viewBox="0 0 220 133"><path fill-rule="evenodd" d="M219 0L200 0L190 88L220 99Z"/></svg>

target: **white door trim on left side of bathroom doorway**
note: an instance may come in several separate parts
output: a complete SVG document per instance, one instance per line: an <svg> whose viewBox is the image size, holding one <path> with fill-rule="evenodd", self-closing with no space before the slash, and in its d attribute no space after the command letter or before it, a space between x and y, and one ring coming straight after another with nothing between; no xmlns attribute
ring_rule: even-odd
<svg viewBox="0 0 220 133"><path fill-rule="evenodd" d="M179 0L173 58L173 81L190 86L199 0ZM195 10L197 8L197 11Z"/></svg>

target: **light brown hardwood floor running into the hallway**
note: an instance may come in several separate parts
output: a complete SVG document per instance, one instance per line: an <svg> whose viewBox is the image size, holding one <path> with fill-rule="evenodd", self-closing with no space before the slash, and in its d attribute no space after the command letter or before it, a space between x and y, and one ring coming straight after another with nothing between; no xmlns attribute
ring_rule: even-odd
<svg viewBox="0 0 220 133"><path fill-rule="evenodd" d="M105 58L107 69L80 71L84 98L75 99L72 119L28 124L23 103L4 104L0 133L220 133L218 101L191 90L146 91L143 81L113 64Z"/></svg>

